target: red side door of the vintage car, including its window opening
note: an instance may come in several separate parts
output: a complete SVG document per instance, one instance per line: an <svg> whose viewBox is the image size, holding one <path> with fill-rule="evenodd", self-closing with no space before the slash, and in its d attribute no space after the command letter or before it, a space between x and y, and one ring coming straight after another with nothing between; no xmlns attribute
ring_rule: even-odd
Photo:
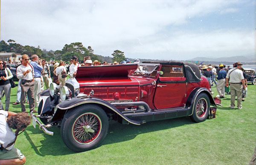
<svg viewBox="0 0 256 165"><path fill-rule="evenodd" d="M154 95L157 109L182 107L186 99L186 77L182 66L163 65Z"/></svg>

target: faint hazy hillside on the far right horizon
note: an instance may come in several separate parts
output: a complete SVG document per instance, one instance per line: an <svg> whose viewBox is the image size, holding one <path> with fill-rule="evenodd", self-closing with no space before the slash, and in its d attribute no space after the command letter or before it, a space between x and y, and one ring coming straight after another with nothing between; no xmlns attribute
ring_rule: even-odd
<svg viewBox="0 0 256 165"><path fill-rule="evenodd" d="M220 58L208 58L208 57L195 57L190 59L190 61L215 61L215 62L230 62L234 63L237 61L244 62L244 63L256 63L256 56L254 55L247 55L247 56L234 56L234 57L220 57Z"/></svg>

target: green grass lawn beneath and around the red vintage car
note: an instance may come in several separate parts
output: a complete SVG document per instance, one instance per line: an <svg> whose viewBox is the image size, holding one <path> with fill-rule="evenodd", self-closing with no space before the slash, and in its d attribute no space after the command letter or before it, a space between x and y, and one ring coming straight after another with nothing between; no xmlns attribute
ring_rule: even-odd
<svg viewBox="0 0 256 165"><path fill-rule="evenodd" d="M16 100L12 88L11 102ZM214 96L217 95L213 87ZM2 99L4 103L5 98ZM222 99L215 119L195 123L189 117L122 125L110 122L102 144L75 153L54 136L29 125L15 147L26 156L26 165L246 165L256 147L256 86L248 86L243 109L231 109L230 95ZM27 110L29 110L26 104ZM20 112L10 104L9 111Z"/></svg>

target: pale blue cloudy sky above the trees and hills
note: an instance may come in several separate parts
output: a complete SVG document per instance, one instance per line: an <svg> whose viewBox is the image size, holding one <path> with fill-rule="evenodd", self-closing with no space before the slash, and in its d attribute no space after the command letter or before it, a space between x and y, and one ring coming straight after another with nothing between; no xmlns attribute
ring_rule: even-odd
<svg viewBox="0 0 256 165"><path fill-rule="evenodd" d="M189 60L255 55L255 0L1 0L0 40Z"/></svg>

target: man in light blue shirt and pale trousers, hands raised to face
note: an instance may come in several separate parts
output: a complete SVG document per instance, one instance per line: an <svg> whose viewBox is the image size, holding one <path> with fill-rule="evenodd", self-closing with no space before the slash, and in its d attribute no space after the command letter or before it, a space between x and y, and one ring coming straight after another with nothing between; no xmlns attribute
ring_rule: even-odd
<svg viewBox="0 0 256 165"><path fill-rule="evenodd" d="M35 107L39 105L39 96L38 94L41 92L41 70L43 70L43 66L41 64L41 60L39 60L38 55L33 54L31 56L30 65L33 66L35 72L35 86L34 86L34 97L35 97Z"/></svg>

